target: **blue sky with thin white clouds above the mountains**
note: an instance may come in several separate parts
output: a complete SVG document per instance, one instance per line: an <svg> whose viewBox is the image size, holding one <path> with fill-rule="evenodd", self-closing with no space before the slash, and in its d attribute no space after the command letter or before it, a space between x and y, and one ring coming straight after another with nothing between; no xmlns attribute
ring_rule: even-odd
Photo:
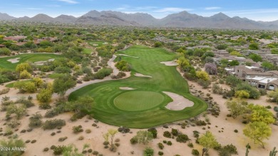
<svg viewBox="0 0 278 156"><path fill-rule="evenodd" d="M82 16L88 11L143 12L161 19L168 14L188 11L191 14L212 16L222 12L256 21L278 20L277 0L0 0L0 12L11 16L61 14Z"/></svg>

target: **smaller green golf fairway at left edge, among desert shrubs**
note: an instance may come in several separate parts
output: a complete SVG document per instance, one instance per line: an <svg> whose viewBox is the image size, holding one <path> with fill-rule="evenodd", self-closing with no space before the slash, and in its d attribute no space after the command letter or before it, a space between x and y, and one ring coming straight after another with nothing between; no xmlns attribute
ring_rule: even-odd
<svg viewBox="0 0 278 156"><path fill-rule="evenodd" d="M61 55L56 55L53 53L26 53L26 54L20 54L18 56L11 56L11 57L5 57L5 58L0 58L0 68L6 68L6 69L11 69L14 70L16 69L16 65L19 63L24 63L24 62L37 62L37 61L48 61L51 58L61 58L63 56ZM7 60L12 59L12 58L19 58L18 63L11 63Z"/></svg>

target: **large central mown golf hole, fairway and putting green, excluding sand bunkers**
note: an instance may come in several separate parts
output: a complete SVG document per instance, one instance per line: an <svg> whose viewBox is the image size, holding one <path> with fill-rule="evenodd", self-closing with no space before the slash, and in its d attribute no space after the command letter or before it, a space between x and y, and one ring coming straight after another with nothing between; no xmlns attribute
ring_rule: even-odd
<svg viewBox="0 0 278 156"><path fill-rule="evenodd" d="M110 125L150 128L192 118L207 109L205 101L189 93L187 81L178 73L176 66L160 63L173 61L175 53L145 46L132 46L117 53L138 57L121 56L132 66L129 78L86 85L69 95L69 100L76 100L83 95L93 97L95 105L89 110L93 118ZM137 77L134 73L151 78ZM136 90L121 90L122 86ZM182 95L194 105L183 110L168 110L165 105L173 100L163 91Z"/></svg>

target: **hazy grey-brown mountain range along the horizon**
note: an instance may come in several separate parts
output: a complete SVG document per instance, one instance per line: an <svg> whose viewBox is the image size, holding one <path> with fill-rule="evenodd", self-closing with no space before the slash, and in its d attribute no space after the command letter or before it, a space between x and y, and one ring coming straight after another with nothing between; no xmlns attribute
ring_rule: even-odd
<svg viewBox="0 0 278 156"><path fill-rule="evenodd" d="M61 15L52 18L46 14L38 14L34 17L15 18L8 14L0 13L1 21L36 21L56 22L71 24L93 24L102 26L148 26L148 27L171 27L171 28L234 28L234 29L272 29L278 30L277 21L253 21L238 16L229 17L221 12L210 17L190 14L182 11L170 14L163 19L155 19L150 14L135 13L125 14L119 11L89 11L78 18Z"/></svg>

